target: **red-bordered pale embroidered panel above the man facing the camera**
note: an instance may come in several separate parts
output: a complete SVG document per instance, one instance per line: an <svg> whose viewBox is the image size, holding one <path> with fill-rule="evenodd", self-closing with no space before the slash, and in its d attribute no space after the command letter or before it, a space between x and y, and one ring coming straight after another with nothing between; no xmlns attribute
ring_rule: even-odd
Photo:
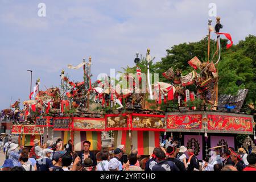
<svg viewBox="0 0 256 182"><path fill-rule="evenodd" d="M104 118L73 118L73 130L76 131L104 131Z"/></svg>

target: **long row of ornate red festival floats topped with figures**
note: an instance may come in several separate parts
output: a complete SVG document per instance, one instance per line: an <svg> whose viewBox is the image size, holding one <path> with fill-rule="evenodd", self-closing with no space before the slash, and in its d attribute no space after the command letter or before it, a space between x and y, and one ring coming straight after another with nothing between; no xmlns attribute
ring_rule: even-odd
<svg viewBox="0 0 256 182"><path fill-rule="evenodd" d="M168 82L152 83L150 49L141 59L137 53L135 76L123 73L122 86L113 84L109 76L92 83L90 57L88 63L84 59L76 67L68 65L69 69L83 68L82 82L71 81L63 70L61 87L42 91L38 79L30 100L23 102L24 109L19 109L17 101L13 105L15 111L9 110L14 124L12 134L19 135L22 146L31 146L35 138L42 143L62 138L64 144L72 139L75 151L82 150L85 140L92 143L90 150L99 151L102 139L109 135L109 150L124 144L128 154L136 148L140 155L150 155L163 139L171 137L192 148L199 160L208 156L210 147L237 148L237 134L251 135L256 139L253 115L241 110L248 90L240 90L237 96L218 96L220 36L229 39L227 49L233 42L230 34L220 32L219 17L214 28L211 23L209 20L208 59L191 57L187 63L192 71L185 76L179 68L168 69L162 73ZM217 36L217 46L210 57L212 32ZM139 67L141 62L146 64L143 72ZM123 85L128 85L128 88ZM192 85L193 89L190 89ZM2 115L5 112L7 110L2 111Z"/></svg>

